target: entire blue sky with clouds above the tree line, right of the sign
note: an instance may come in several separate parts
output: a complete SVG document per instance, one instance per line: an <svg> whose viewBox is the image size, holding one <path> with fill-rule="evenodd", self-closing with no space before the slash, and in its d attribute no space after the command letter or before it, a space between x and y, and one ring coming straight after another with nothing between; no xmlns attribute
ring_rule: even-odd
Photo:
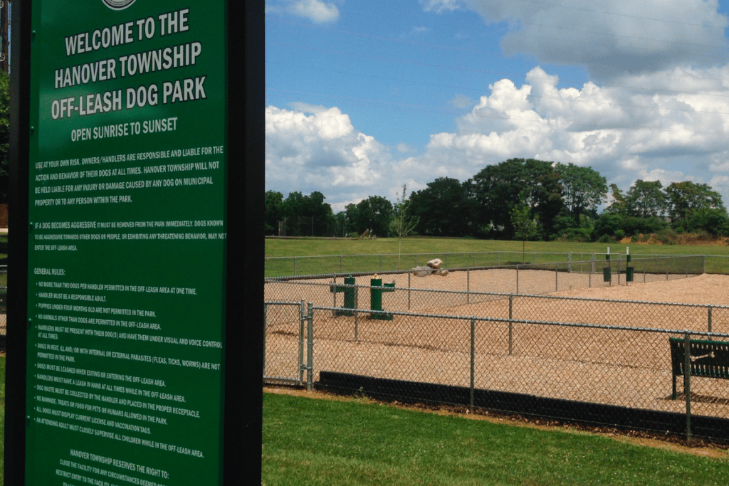
<svg viewBox="0 0 729 486"><path fill-rule="evenodd" d="M534 157L729 204L728 4L591 5L267 0L266 189L336 212Z"/></svg>

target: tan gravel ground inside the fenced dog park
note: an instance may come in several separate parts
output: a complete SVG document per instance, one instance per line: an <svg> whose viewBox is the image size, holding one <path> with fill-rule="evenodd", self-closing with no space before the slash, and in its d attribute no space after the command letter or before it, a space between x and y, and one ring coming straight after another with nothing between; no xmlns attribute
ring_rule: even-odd
<svg viewBox="0 0 729 486"><path fill-rule="evenodd" d="M636 283L608 286L602 275L522 270L520 294L610 299L634 302L676 302L689 306L625 305L593 300L548 300L513 297L512 317L529 321L601 324L645 328L646 331L593 329L550 324L475 324L475 386L558 399L625 407L685 412L682 378L678 399L671 399L672 375L668 337L655 329L708 330L708 307L729 306L729 276L636 275ZM623 275L624 277L624 275ZM684 275L681 275L684 277ZM392 281L386 275L384 281ZM512 293L513 270L451 273L425 278L396 275L396 287L383 294L385 310L507 319L504 296L455 294L456 290ZM596 282L597 281L597 282ZM342 294L328 282L267 284L267 300L305 299L315 305L340 307ZM368 285L369 278L358 278ZM592 288L590 288L590 286ZM439 290L424 292L418 289ZM550 290L551 289L551 290ZM557 291L555 291L557 289ZM369 289L360 289L359 308L369 307ZM362 302L367 297L367 301ZM266 375L297 377L299 324L295 308L270 308L266 336ZM729 332L729 307L712 308L712 330ZM469 385L470 319L395 315L392 321L370 319L367 313L314 315L313 369ZM729 380L692 380L695 415L729 417Z"/></svg>

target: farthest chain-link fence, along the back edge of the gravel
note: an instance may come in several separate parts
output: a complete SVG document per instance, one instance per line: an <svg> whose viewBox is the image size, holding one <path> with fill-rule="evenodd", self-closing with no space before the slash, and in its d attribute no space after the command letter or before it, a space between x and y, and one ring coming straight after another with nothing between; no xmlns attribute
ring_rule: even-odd
<svg viewBox="0 0 729 486"><path fill-rule="evenodd" d="M483 267L514 267L529 264L561 264L565 270L602 273L609 266L612 273L624 271L628 255L611 253L609 264L607 254L600 253L537 253L520 251L483 251L471 253L441 254L370 254L370 255L324 255L324 256L278 256L265 259L265 276L295 277L297 275L333 275L346 273L384 273L408 270L440 259L448 269ZM638 260L644 261L641 267ZM652 263L651 263L652 262ZM696 266L701 262L700 269ZM686 265L689 265L686 267ZM636 273L729 273L729 256L725 255L633 255L632 266Z"/></svg>

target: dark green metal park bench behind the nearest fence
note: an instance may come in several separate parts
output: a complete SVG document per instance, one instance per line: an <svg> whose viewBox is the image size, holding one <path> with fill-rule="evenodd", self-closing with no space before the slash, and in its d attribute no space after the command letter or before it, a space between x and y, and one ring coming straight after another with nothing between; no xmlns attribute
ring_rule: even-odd
<svg viewBox="0 0 729 486"><path fill-rule="evenodd" d="M685 376L685 340L671 337L671 368L674 375L676 399L676 377ZM689 340L690 376L703 378L722 378L729 380L729 342ZM685 389L685 383L684 383Z"/></svg>

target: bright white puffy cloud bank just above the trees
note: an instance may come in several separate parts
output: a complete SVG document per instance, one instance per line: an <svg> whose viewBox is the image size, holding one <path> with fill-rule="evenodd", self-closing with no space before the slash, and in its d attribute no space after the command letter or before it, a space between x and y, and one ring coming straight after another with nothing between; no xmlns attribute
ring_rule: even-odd
<svg viewBox="0 0 729 486"><path fill-rule="evenodd" d="M687 75L693 87L683 90ZM636 179L706 183L729 203L728 68L624 76L620 87L558 81L534 68L521 86L495 82L455 130L433 133L419 154L404 142L383 146L336 107L269 106L266 187L319 190L336 211L368 195L394 200L402 184L464 181L486 165L533 157L590 166L625 190Z"/></svg>

